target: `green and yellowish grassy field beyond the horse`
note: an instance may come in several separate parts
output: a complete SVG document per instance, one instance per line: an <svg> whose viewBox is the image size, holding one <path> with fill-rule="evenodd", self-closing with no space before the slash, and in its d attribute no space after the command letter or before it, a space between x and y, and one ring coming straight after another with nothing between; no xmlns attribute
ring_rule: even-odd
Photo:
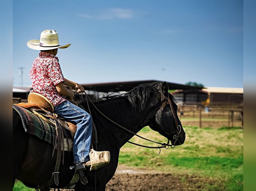
<svg viewBox="0 0 256 191"><path fill-rule="evenodd" d="M184 118L183 118L184 119ZM198 128L183 126L186 140L175 148L149 149L126 143L120 151L119 163L143 169L160 170L178 175L186 181L186 175L197 175L213 179L204 191L243 190L243 129L240 127ZM166 138L144 127L139 135L157 142L167 142ZM132 142L156 146L138 137ZM15 183L14 191L30 191L22 183Z"/></svg>

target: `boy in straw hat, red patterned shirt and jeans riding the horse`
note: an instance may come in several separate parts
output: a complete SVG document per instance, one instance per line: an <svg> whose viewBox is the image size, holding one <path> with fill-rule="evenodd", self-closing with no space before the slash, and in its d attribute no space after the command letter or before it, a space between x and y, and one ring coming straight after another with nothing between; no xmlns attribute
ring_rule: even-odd
<svg viewBox="0 0 256 191"><path fill-rule="evenodd" d="M80 84L63 77L56 57L58 48L65 49L70 45L60 46L58 33L55 30L45 30L41 33L40 40L28 41L29 48L41 51L33 62L29 77L33 87L31 92L45 96L53 104L54 113L77 124L73 145L75 170L84 170L91 165L89 150L92 119L85 110L68 101L73 99L74 93L64 85L75 88L78 93L85 90Z"/></svg>

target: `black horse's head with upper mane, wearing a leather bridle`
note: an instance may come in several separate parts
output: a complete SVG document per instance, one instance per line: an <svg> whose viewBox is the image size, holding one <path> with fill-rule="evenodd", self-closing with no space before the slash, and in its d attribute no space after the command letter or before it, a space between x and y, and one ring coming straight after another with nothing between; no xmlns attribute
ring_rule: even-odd
<svg viewBox="0 0 256 191"><path fill-rule="evenodd" d="M140 117L146 114L142 126L159 132L174 146L184 143L185 132L177 115L176 101L168 93L166 82L144 83L126 95L132 105L140 110Z"/></svg>

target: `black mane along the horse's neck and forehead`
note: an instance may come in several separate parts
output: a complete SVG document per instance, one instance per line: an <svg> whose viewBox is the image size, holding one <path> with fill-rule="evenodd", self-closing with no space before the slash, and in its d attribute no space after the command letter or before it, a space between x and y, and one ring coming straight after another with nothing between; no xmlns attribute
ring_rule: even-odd
<svg viewBox="0 0 256 191"><path fill-rule="evenodd" d="M101 98L98 96L94 96L94 98L92 98L92 101L93 102L101 102L101 101L105 101L105 100L126 97L135 108L139 107L140 109L144 110L145 105L146 105L149 97L152 94L160 95L161 101L165 99L165 96L162 93L162 83L161 82L144 83L144 84L136 86L129 92L121 94L121 95L109 94L109 95L107 95L105 97L101 97ZM176 102L173 95L169 94L169 98L172 99L174 102Z"/></svg>

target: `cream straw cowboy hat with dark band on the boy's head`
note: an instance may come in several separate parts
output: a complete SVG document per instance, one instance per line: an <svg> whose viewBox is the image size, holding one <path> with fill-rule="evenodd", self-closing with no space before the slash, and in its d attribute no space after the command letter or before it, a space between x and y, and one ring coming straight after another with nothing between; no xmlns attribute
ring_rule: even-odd
<svg viewBox="0 0 256 191"><path fill-rule="evenodd" d="M71 44L65 46L59 45L58 32L55 30L45 30L41 32L40 40L30 40L27 46L34 50L52 50L56 48L68 48Z"/></svg>

